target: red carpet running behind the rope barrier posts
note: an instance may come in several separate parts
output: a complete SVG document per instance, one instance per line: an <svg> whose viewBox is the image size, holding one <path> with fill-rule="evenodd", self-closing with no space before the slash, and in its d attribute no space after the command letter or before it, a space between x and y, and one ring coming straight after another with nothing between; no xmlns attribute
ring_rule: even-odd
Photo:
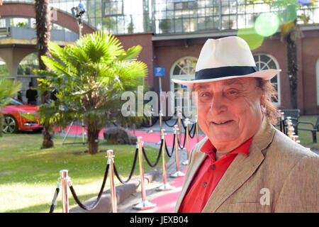
<svg viewBox="0 0 319 227"><path fill-rule="evenodd" d="M67 131L69 126L65 128L65 131ZM103 131L106 130L106 128L103 128L100 133L99 137L103 138ZM59 130L55 130L59 131ZM85 128L86 132L86 128ZM72 128L69 131L70 134L82 134L82 126L72 126ZM130 133L133 133L133 131L130 131ZM135 131L136 136L142 136L142 141L144 142L151 142L151 143L157 143L160 141L160 135L159 133L147 133L143 131ZM199 136L199 140L202 140L204 136ZM170 147L173 145L173 134L165 135L166 144ZM184 135L181 135L181 141L184 142ZM194 145L197 143L196 136L194 138L189 138L189 149L194 147ZM186 143L185 143L186 146ZM181 150L180 152L183 152ZM186 151L184 151L186 152ZM184 166L180 165L180 169L182 169ZM186 167L184 167L184 170L182 172L186 172ZM169 177L169 176L167 176ZM172 213L174 212L175 205L177 202L177 199L179 197L179 193L181 192L181 186L183 185L184 177L177 177L175 178L170 185L174 186L175 189L172 189L170 191L166 192L159 192L158 196L155 199L152 199L151 202L157 204L157 206L153 209L140 211L140 213ZM147 196L147 195L146 195Z"/></svg>

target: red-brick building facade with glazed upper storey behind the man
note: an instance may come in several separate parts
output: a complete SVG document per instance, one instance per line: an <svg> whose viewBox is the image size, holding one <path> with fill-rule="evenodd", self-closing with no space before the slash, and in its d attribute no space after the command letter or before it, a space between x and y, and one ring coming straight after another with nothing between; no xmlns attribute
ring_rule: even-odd
<svg viewBox="0 0 319 227"><path fill-rule="evenodd" d="M139 60L145 62L148 67L145 82L156 92L159 92L159 78L154 76L155 67L165 69L165 76L161 78L162 91L186 90L180 85L173 84L171 79L194 79L199 52L208 38L244 34L242 37L245 36L251 45L254 60L259 69L282 70L272 79L278 91L276 106L280 109L291 109L291 99L287 50L286 44L281 41L279 26L296 19L301 28L300 38L297 39L298 62L296 62L298 64L298 109L301 109L301 114L319 113L318 2L308 4L306 1L296 1L291 7L283 4L272 6L263 3L250 4L250 1L245 0L90 0L81 2L86 6L82 33L102 30L116 35L124 48L141 45L142 52ZM61 33L60 36L57 35L55 42L60 42L60 45L72 43L78 38L79 27L77 21L72 18L70 9L77 6L79 1L52 0L50 3L53 28L60 33L64 31L64 39L61 39ZM22 24L26 29L34 29L35 15L32 0L4 0L3 5L0 6L0 13L0 29L11 28L13 31L17 23L20 26ZM274 18L276 18L270 23L266 21L261 27L259 26L264 28L265 35L256 34L257 21L262 14L268 17L275 15ZM269 28L272 27L275 31L269 35ZM21 27L19 29L21 30ZM28 43L21 41L23 38L11 38L11 44L8 44L10 43L8 36L0 38L2 61L8 62L3 57L6 55L5 52L10 49L14 55L14 52L17 52L14 50L17 46L20 49L33 48L35 52L34 43L31 42L33 39L29 38ZM28 46L23 42L28 43ZM13 59L14 56L11 58ZM16 62L21 61L16 60ZM22 77L14 70L9 70L9 76Z"/></svg>

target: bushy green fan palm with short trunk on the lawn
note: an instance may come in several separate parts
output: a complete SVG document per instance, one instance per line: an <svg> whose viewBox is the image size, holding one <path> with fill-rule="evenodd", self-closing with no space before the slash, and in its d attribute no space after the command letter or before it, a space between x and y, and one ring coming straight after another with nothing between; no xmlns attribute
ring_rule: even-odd
<svg viewBox="0 0 319 227"><path fill-rule="evenodd" d="M56 89L57 100L40 106L40 118L62 127L84 119L89 153L95 154L99 131L111 122L107 115L121 116L121 93L136 91L147 74L145 63L136 60L142 48L125 51L117 38L103 32L83 35L65 48L49 46L52 57L41 59L51 72L38 70L47 77L39 79L39 87Z"/></svg>

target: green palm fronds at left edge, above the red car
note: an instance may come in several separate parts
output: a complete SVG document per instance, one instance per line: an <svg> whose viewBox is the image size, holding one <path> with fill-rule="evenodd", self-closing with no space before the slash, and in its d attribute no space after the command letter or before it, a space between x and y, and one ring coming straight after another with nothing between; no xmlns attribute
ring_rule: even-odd
<svg viewBox="0 0 319 227"><path fill-rule="evenodd" d="M1 109L3 109L4 106L9 103L9 97L20 91L21 87L22 84L19 81L0 78L0 137L2 136L2 130L4 126L4 118L1 114Z"/></svg>

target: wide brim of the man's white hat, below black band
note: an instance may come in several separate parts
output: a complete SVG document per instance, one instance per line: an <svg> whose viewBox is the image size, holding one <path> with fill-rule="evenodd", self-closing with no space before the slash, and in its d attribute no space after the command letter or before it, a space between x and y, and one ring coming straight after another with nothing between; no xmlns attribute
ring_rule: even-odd
<svg viewBox="0 0 319 227"><path fill-rule="evenodd" d="M213 78L213 79L194 79L194 80L172 79L172 82L193 87L194 84L198 84L198 83L216 82L216 81L225 80L225 79L244 78L244 77L259 77L264 80L268 80L268 79L272 79L272 77L276 76L276 74L279 74L279 72L281 72L281 70L263 70L263 71L258 71L251 74L246 74L246 75L219 77L219 78Z"/></svg>

